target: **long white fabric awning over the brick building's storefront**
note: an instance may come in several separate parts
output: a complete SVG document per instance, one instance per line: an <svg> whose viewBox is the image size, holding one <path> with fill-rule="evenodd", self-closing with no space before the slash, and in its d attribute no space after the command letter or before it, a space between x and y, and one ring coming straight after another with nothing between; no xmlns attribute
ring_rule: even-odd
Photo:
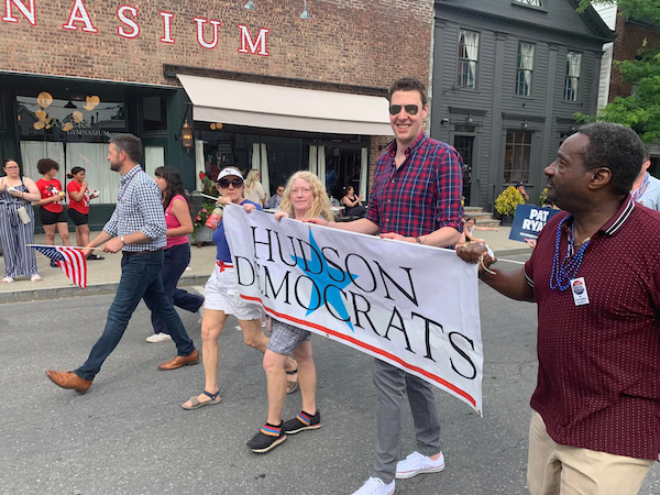
<svg viewBox="0 0 660 495"><path fill-rule="evenodd" d="M393 135L387 99L177 74L195 120L332 134Z"/></svg>

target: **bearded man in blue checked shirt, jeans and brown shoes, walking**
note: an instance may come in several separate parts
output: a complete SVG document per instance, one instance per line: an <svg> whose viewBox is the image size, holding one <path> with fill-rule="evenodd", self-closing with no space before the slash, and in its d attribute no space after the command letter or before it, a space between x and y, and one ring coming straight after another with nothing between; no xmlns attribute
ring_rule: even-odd
<svg viewBox="0 0 660 495"><path fill-rule="evenodd" d="M74 372L46 372L46 376L62 388L87 392L103 361L121 340L141 299L144 299L148 309L160 314L176 344L178 355L158 369L175 370L199 361L199 353L165 295L161 280L163 248L166 243L162 194L154 179L142 170L139 164L141 156L142 141L133 134L119 134L110 141L110 168L121 175L117 207L103 231L88 248L105 244L102 250L106 253L121 251L121 279L108 310L103 334L91 348L85 364Z"/></svg>

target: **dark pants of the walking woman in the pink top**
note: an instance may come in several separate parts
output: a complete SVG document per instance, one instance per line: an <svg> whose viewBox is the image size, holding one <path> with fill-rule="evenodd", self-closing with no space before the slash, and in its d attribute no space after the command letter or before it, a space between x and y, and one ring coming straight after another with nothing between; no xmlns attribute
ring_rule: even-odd
<svg viewBox="0 0 660 495"><path fill-rule="evenodd" d="M161 268L161 278L165 295L174 302L174 306L196 312L204 305L204 297L176 288L178 279L190 263L190 244L174 245L166 249L164 253L165 261ZM154 333L169 333L167 326L155 311L152 311L152 324Z"/></svg>

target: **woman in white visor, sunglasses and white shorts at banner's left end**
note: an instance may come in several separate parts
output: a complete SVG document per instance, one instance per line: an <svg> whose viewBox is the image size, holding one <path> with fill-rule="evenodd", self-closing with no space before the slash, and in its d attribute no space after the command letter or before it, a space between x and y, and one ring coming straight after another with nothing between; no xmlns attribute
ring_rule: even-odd
<svg viewBox="0 0 660 495"><path fill-rule="evenodd" d="M246 209L262 209L243 197L244 184L241 173L232 167L224 168L218 175L216 187L220 193L218 205L226 206L229 202L242 205ZM218 246L216 266L205 288L205 312L201 321L201 350L206 383L204 392L196 397L190 397L183 407L184 409L198 409L204 406L219 404L220 388L218 385L218 362L220 352L218 338L229 315L238 318L243 330L243 339L250 345L262 353L266 351L268 338L262 330L262 309L257 302L250 302L239 295L239 283L231 261L229 244L224 235L223 219L213 232L213 243ZM297 364L290 358L286 362L289 374L297 374ZM295 385L288 388L295 389Z"/></svg>

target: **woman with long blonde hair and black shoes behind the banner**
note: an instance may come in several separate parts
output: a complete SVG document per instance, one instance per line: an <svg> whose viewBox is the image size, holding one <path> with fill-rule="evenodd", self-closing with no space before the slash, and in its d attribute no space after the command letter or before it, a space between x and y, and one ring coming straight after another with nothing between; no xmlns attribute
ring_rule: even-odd
<svg viewBox="0 0 660 495"><path fill-rule="evenodd" d="M250 208L253 209L253 208ZM246 211L250 210L245 208ZM305 220L321 217L332 221L330 200L321 180L308 170L296 172L288 180L277 220L282 218ZM317 374L311 355L310 332L273 319L273 336L264 353L264 370L268 383L268 418L263 428L248 442L253 452L267 452L286 440L286 433L321 427L321 415L316 406ZM293 353L298 362L298 381L302 396L302 409L293 419L284 422L282 409L286 399L285 364Z"/></svg>

